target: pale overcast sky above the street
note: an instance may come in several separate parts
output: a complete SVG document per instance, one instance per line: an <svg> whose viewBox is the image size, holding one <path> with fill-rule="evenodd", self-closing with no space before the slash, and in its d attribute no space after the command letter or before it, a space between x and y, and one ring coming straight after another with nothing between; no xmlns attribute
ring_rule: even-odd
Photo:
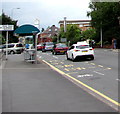
<svg viewBox="0 0 120 114"><path fill-rule="evenodd" d="M56 25L67 17L67 20L82 20L88 18L87 11L90 0L3 0L4 13L18 20L18 25L34 24L40 20L40 28ZM20 9L16 9L20 8Z"/></svg>

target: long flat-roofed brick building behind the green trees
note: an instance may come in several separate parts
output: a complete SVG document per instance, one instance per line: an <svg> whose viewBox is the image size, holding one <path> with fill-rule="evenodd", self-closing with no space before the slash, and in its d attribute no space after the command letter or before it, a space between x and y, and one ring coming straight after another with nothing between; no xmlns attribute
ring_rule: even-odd
<svg viewBox="0 0 120 114"><path fill-rule="evenodd" d="M92 28L90 24L91 20L66 20L66 24L74 24L81 28L82 31L85 31L89 28ZM64 26L64 20L59 21L60 28Z"/></svg>

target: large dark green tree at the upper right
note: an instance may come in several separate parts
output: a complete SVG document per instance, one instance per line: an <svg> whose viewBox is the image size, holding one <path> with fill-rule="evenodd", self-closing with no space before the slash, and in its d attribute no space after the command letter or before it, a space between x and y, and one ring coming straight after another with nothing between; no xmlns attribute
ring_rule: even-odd
<svg viewBox="0 0 120 114"><path fill-rule="evenodd" d="M103 30L103 40L111 43L113 37L120 39L120 27L118 17L120 16L120 4L118 2L91 2L89 4L91 12L87 15L91 16L91 24L96 29L98 37L96 41L100 41L100 29Z"/></svg>

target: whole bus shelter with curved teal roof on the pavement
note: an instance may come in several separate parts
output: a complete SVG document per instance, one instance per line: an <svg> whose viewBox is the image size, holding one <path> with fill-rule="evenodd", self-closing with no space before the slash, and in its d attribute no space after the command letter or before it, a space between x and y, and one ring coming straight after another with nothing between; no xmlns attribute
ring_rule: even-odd
<svg viewBox="0 0 120 114"><path fill-rule="evenodd" d="M33 25L22 25L14 31L15 36L33 36L33 48L24 50L24 60L37 64L37 38L40 30Z"/></svg>

